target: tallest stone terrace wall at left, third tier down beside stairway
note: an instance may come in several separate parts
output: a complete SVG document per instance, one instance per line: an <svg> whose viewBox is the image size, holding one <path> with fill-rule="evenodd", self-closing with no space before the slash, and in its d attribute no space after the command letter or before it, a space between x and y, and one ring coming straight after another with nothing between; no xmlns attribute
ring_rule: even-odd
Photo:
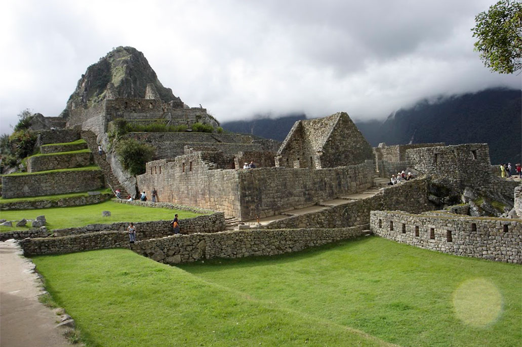
<svg viewBox="0 0 522 347"><path fill-rule="evenodd" d="M80 193L103 188L100 169L29 173L2 176L2 197Z"/></svg>

